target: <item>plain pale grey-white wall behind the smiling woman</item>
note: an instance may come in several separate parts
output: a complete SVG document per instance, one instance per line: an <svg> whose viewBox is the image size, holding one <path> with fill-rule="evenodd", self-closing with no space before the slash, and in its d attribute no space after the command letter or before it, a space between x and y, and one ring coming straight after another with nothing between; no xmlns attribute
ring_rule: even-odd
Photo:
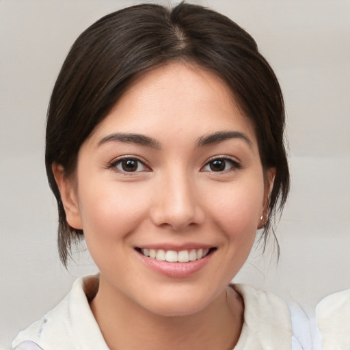
<svg viewBox="0 0 350 350"><path fill-rule="evenodd" d="M69 272L59 263L46 107L79 33L139 2L0 0L0 347L97 271L86 253ZM280 263L273 247L263 256L258 248L235 281L294 299L312 317L322 297L350 287L350 1L193 2L252 34L286 100L292 189L277 230Z"/></svg>

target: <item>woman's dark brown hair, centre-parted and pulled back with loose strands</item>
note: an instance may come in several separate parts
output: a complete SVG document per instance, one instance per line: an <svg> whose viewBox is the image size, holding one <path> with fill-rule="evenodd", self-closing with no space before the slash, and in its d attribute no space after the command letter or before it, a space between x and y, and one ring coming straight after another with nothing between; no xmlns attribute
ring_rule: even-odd
<svg viewBox="0 0 350 350"><path fill-rule="evenodd" d="M239 25L208 8L180 3L172 9L135 5L100 18L75 41L62 66L49 105L46 126L46 172L58 204L59 256L67 264L73 241L83 237L70 227L52 165L66 176L77 164L81 144L92 133L137 75L183 59L215 72L228 84L255 126L265 170L275 167L267 239L276 211L289 189L284 148L284 102L278 80L254 39Z"/></svg>

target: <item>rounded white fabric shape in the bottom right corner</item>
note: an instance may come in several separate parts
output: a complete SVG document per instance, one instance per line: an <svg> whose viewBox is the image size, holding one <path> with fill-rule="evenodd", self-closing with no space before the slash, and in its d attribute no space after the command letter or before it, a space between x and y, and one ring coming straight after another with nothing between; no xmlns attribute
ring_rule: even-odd
<svg viewBox="0 0 350 350"><path fill-rule="evenodd" d="M323 298L316 307L323 349L350 349L350 289Z"/></svg>

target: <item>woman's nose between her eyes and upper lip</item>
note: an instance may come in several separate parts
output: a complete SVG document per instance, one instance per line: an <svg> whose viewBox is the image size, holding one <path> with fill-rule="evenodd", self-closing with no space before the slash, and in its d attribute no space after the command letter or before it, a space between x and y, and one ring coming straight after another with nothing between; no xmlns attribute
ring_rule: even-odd
<svg viewBox="0 0 350 350"><path fill-rule="evenodd" d="M202 224L200 196L189 177L173 173L159 181L150 215L155 225L180 231Z"/></svg>

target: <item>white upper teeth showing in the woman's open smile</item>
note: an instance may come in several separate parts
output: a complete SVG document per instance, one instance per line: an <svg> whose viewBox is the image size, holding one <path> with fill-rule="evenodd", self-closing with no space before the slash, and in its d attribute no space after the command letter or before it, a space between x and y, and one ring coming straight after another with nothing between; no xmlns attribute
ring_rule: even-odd
<svg viewBox="0 0 350 350"><path fill-rule="evenodd" d="M155 250L155 249L146 249L146 248L135 248L137 252L141 253L148 258L152 258L159 261L167 262L190 262L196 261L204 258L208 254L211 254L215 247L211 249L192 249L192 250L180 250L176 252L175 250Z"/></svg>

